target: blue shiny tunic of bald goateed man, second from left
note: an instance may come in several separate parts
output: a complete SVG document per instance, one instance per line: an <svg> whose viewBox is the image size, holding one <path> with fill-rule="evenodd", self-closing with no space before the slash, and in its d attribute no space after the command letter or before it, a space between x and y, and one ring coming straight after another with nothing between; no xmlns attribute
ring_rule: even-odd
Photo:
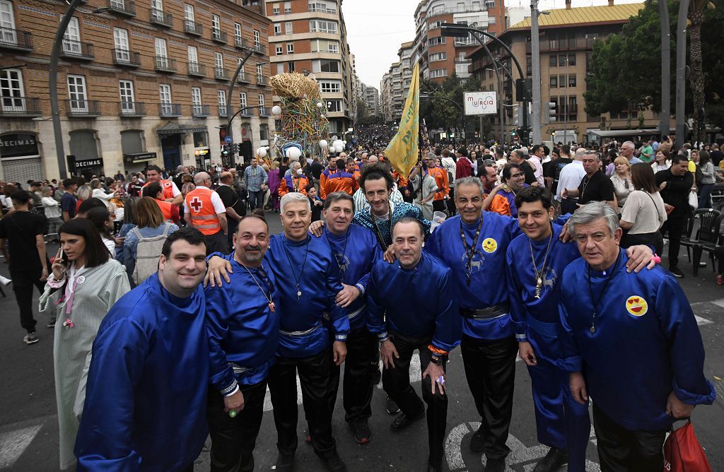
<svg viewBox="0 0 724 472"><path fill-rule="evenodd" d="M266 297L271 296L279 306L279 290L274 288L276 279L266 264L262 264L261 271L251 267L247 270L235 260L234 253L224 258L232 266L231 283L206 287L206 329L211 384L228 394L235 380L253 385L266 379L274 364L279 345L279 311L269 309Z"/></svg>

